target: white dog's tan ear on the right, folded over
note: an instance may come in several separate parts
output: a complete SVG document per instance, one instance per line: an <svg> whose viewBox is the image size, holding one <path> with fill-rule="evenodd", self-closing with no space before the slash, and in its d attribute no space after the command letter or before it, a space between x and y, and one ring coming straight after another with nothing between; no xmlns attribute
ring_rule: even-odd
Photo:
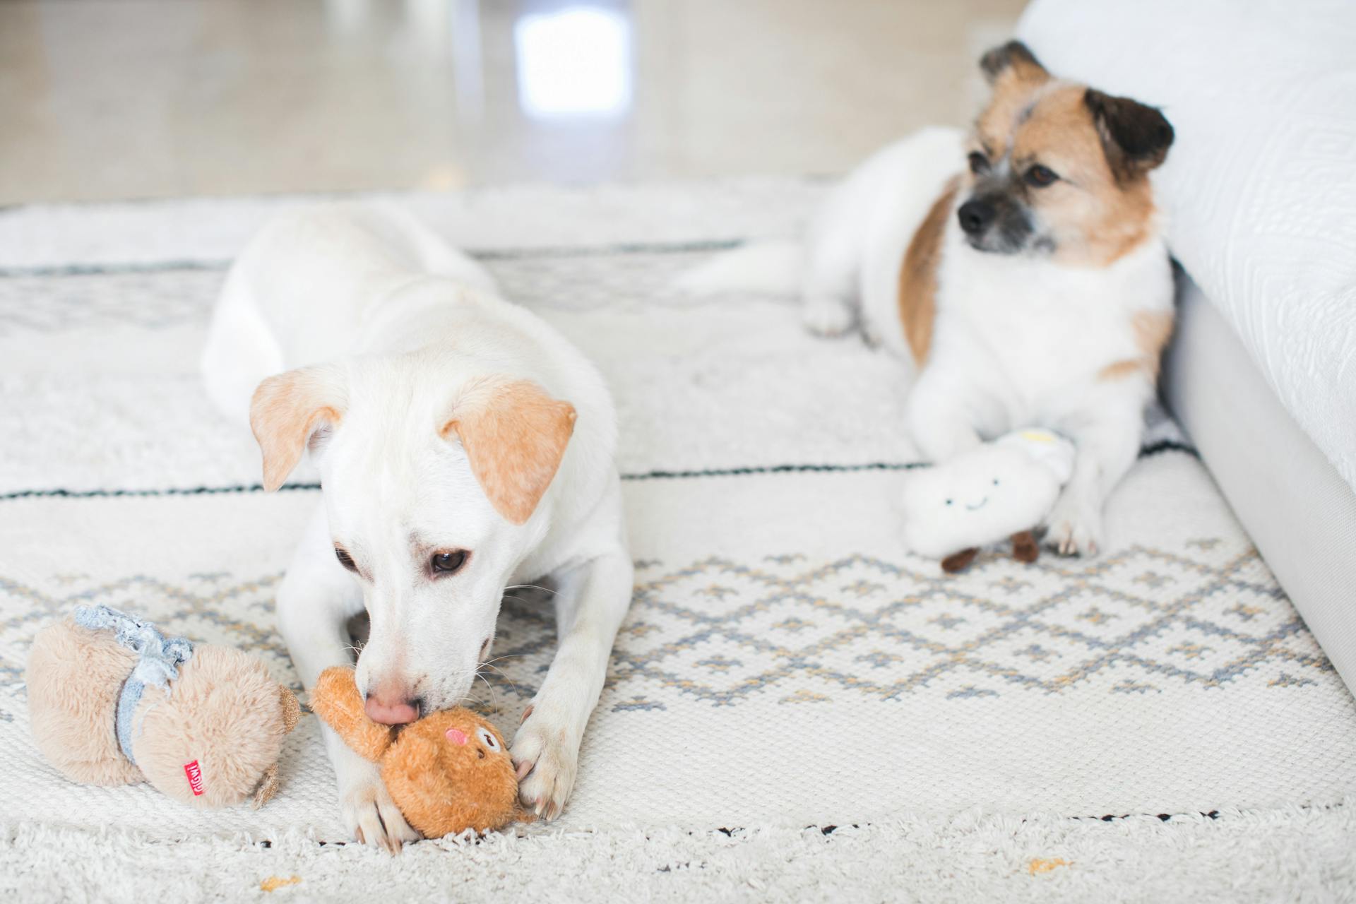
<svg viewBox="0 0 1356 904"><path fill-rule="evenodd" d="M551 485L575 430L575 407L527 379L490 379L457 400L438 431L456 434L495 510L522 525Z"/></svg>

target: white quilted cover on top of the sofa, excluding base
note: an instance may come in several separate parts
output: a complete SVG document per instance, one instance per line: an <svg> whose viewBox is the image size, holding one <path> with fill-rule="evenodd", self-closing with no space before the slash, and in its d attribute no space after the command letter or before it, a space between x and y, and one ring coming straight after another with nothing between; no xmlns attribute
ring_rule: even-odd
<svg viewBox="0 0 1356 904"><path fill-rule="evenodd" d="M1356 488L1356 3L1035 0L1018 37L1172 121L1173 253Z"/></svg>

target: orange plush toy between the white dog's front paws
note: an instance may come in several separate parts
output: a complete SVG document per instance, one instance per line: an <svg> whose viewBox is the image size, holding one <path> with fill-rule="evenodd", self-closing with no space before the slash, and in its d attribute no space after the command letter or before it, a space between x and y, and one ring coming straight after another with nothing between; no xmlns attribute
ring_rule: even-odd
<svg viewBox="0 0 1356 904"><path fill-rule="evenodd" d="M469 709L431 713L393 731L367 718L353 670L342 665L320 674L311 709L381 767L391 800L424 838L468 828L483 834L526 819L503 740Z"/></svg>

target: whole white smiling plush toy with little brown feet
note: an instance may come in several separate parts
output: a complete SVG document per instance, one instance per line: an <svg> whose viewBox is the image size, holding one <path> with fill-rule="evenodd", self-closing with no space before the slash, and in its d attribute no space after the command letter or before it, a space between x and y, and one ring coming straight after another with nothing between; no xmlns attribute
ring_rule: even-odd
<svg viewBox="0 0 1356 904"><path fill-rule="evenodd" d="M904 543L965 568L979 548L1013 541L1013 556L1035 561L1032 537L1074 465L1074 445L1048 430L1018 430L960 457L909 472L904 480Z"/></svg>

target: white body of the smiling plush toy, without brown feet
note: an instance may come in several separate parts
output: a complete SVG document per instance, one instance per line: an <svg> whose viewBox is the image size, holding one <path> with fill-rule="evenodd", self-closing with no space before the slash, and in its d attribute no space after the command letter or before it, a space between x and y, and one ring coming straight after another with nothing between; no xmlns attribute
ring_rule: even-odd
<svg viewBox="0 0 1356 904"><path fill-rule="evenodd" d="M1026 450L984 445L961 458L909 472L904 542L923 556L986 546L1040 523L1059 480Z"/></svg>

